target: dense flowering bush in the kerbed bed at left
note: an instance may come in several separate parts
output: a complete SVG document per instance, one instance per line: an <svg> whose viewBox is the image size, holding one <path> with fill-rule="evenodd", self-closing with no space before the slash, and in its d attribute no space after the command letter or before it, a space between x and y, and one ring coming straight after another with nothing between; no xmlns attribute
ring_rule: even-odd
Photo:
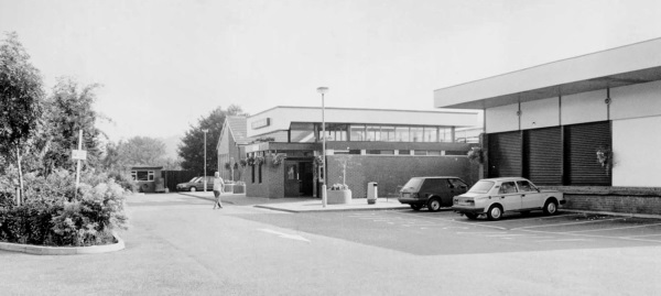
<svg viewBox="0 0 661 296"><path fill-rule="evenodd" d="M111 231L127 228L128 193L108 174L83 174L78 190L75 176L66 171L47 177L26 174L25 202L0 204L0 241L44 245L112 242Z"/></svg>

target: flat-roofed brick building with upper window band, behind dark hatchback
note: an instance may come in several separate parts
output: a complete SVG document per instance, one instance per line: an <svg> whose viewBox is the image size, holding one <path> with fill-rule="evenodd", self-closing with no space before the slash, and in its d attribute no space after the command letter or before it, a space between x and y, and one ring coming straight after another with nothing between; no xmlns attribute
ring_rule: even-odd
<svg viewBox="0 0 661 296"><path fill-rule="evenodd" d="M325 108L324 118L325 171L322 108L314 107L274 107L243 118L242 144L236 139L230 143L224 129L219 157L245 160L247 196L269 198L319 197L324 174L328 186L346 183L354 198L366 197L368 182L378 183L379 196L394 197L412 176L477 180L478 167L466 157L476 145L472 139L481 132L474 129L477 111ZM237 156L225 155L231 145L237 146Z"/></svg>

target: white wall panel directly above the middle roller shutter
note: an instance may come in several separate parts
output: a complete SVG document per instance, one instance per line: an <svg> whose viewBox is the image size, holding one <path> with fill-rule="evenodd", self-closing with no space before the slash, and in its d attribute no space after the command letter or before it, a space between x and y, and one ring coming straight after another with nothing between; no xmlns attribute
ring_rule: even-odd
<svg viewBox="0 0 661 296"><path fill-rule="evenodd" d="M534 100L521 103L521 129L540 129L560 125L557 98Z"/></svg>

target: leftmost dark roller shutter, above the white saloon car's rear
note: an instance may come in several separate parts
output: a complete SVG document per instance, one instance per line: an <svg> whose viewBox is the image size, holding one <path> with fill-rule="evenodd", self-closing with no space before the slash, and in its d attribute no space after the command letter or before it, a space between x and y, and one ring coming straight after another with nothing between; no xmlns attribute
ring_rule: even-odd
<svg viewBox="0 0 661 296"><path fill-rule="evenodd" d="M489 134L489 177L521 176L521 132Z"/></svg>

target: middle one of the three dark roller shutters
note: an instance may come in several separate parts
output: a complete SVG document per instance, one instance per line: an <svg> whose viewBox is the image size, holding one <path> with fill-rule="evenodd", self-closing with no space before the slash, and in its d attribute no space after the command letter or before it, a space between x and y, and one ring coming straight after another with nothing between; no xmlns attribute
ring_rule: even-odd
<svg viewBox="0 0 661 296"><path fill-rule="evenodd" d="M525 176L539 185L562 185L562 130L560 127L523 133Z"/></svg>

